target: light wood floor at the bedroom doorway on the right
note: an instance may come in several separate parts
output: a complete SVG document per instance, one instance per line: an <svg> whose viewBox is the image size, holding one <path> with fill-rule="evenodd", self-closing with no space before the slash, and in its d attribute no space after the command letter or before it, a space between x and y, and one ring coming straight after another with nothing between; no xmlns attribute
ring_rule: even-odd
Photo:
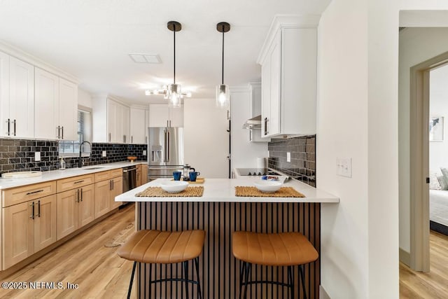
<svg viewBox="0 0 448 299"><path fill-rule="evenodd" d="M448 298L448 236L431 230L430 272L400 263L400 298Z"/></svg>

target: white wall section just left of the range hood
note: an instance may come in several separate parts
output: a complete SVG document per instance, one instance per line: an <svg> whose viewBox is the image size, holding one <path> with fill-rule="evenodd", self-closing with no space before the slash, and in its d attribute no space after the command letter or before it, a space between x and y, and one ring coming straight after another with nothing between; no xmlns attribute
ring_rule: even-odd
<svg viewBox="0 0 448 299"><path fill-rule="evenodd" d="M252 118L251 91L248 88L230 88L232 95L232 168L256 168L257 157L267 157L267 142L250 142L249 130L243 129ZM261 134L260 130L255 131Z"/></svg>

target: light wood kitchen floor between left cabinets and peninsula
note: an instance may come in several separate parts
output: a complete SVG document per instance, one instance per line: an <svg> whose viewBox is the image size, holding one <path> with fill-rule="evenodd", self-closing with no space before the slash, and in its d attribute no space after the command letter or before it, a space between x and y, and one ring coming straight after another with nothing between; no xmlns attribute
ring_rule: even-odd
<svg viewBox="0 0 448 299"><path fill-rule="evenodd" d="M118 247L104 244L133 221L131 204L1 281L62 281L78 289L0 288L0 298L126 298L132 262L117 256ZM132 298L135 288L134 283Z"/></svg>

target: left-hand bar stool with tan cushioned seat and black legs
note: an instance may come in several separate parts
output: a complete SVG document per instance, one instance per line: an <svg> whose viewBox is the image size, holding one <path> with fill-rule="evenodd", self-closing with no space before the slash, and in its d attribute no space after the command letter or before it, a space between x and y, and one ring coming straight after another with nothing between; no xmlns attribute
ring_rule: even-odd
<svg viewBox="0 0 448 299"><path fill-rule="evenodd" d="M139 230L130 237L120 249L118 256L127 260L134 260L131 281L127 298L130 298L132 281L134 281L135 267L137 263L149 264L149 293L151 284L163 281L183 281L186 283L186 298L188 298L188 282L197 284L197 294L202 298L199 278L199 256L204 247L204 230L185 230L181 232L169 232L161 230ZM197 281L188 279L188 261L194 260ZM152 264L182 263L184 278L164 278L151 280Z"/></svg>

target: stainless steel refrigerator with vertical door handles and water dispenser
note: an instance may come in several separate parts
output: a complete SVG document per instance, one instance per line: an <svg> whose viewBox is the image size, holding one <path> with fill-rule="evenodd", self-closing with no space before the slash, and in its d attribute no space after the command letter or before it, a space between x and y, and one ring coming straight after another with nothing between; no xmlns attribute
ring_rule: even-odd
<svg viewBox="0 0 448 299"><path fill-rule="evenodd" d="M148 179L183 169L183 127L148 127Z"/></svg>

